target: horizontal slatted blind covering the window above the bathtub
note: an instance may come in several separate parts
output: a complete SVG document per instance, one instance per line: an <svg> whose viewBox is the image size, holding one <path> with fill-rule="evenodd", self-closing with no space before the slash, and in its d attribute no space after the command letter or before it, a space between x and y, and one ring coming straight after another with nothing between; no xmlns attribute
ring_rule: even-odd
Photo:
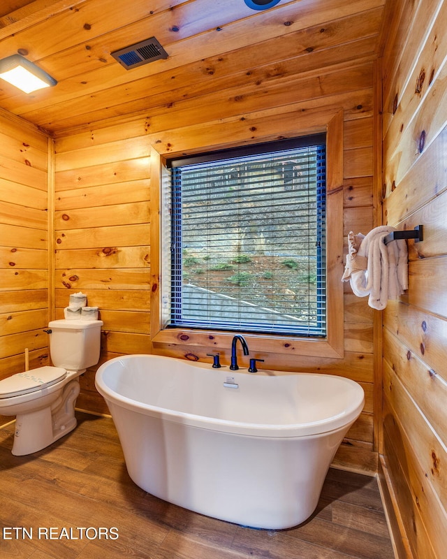
<svg viewBox="0 0 447 559"><path fill-rule="evenodd" d="M169 326L325 336L318 140L171 164Z"/></svg>

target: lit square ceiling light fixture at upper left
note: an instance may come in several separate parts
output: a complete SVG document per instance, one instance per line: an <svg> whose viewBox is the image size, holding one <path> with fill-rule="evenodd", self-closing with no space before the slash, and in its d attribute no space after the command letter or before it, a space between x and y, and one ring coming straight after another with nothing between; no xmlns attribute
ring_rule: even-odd
<svg viewBox="0 0 447 559"><path fill-rule="evenodd" d="M11 85L22 89L22 92L31 93L43 87L56 85L54 80L34 62L30 62L22 55L12 55L0 60L0 78Z"/></svg>

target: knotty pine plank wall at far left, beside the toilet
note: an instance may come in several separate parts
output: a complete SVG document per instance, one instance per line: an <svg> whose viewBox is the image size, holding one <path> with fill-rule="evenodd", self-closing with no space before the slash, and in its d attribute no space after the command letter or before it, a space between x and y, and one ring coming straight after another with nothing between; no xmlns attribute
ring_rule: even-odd
<svg viewBox="0 0 447 559"><path fill-rule="evenodd" d="M0 111L0 379L47 364L48 139ZM10 421L0 416L0 422Z"/></svg>

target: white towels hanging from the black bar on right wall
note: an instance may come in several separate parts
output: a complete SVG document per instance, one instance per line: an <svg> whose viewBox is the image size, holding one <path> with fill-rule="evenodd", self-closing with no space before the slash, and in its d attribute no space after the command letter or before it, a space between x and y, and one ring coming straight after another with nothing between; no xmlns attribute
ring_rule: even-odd
<svg viewBox="0 0 447 559"><path fill-rule="evenodd" d="M408 289L408 255L405 240L394 240L385 245L383 239L396 231L394 227L380 226L362 239L360 247L356 242L362 238L361 233L351 236L352 247L346 257L346 269L343 281L351 283L353 293L358 297L369 296L368 305L373 309L383 310L388 299L395 299ZM349 239L348 237L348 239ZM354 252L356 251L356 252ZM355 256L352 256L355 254ZM353 259L366 266L353 266Z"/></svg>

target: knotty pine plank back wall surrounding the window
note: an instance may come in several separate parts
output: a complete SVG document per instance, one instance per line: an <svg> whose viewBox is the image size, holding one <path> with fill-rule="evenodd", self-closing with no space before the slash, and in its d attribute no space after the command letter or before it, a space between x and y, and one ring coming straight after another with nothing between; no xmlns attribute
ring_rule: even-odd
<svg viewBox="0 0 447 559"><path fill-rule="evenodd" d="M68 296L84 291L88 304L101 309L101 362L119 354L162 353L185 357L188 347L151 343L150 150L193 152L312 133L322 115L344 111L344 235L372 228L374 64L363 60L311 73L277 94L226 100L200 96L166 106L151 119L92 127L57 138L55 143L55 304L62 317ZM207 110L203 110L203 106ZM199 110L200 108L200 110ZM152 171L153 172L153 171ZM156 171L155 171L156 172ZM157 208L153 208L157 211ZM340 278L342 277L340 268ZM335 373L360 382L367 403L335 460L340 467L376 471L374 440L373 316L366 300L346 287L343 359L270 354L270 368ZM209 348L195 347L201 361ZM226 358L226 357L225 357ZM78 405L106 412L94 389L94 370L82 379Z"/></svg>

